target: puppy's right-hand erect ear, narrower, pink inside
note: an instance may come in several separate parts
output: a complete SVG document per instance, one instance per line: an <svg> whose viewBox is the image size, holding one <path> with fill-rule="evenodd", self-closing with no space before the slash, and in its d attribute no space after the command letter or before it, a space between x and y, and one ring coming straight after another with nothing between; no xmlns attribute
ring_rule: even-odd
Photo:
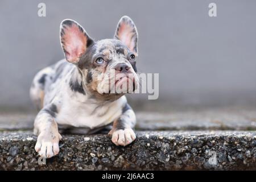
<svg viewBox="0 0 256 182"><path fill-rule="evenodd" d="M119 20L114 38L119 39L130 51L138 54L138 32L133 20L129 16L123 16Z"/></svg>

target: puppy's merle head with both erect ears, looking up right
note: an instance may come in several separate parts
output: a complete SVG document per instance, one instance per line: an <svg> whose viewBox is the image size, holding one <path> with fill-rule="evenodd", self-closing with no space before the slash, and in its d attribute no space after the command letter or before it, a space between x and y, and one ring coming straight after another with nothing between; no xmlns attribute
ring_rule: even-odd
<svg viewBox="0 0 256 182"><path fill-rule="evenodd" d="M128 16L119 20L113 39L97 42L79 23L65 19L60 41L66 60L77 66L86 90L94 96L112 100L137 88L138 32Z"/></svg>

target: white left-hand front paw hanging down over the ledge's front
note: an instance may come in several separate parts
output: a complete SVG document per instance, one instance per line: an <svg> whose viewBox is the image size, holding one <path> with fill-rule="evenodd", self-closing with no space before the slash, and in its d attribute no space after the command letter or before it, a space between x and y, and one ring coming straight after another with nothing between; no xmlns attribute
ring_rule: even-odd
<svg viewBox="0 0 256 182"><path fill-rule="evenodd" d="M59 154L59 140L61 139L59 133L40 133L35 145L35 150L44 158L51 158Z"/></svg>

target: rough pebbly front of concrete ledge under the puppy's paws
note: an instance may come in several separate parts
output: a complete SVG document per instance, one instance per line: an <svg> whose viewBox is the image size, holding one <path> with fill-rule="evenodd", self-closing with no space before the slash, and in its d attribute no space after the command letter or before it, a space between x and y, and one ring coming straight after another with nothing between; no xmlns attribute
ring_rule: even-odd
<svg viewBox="0 0 256 182"><path fill-rule="evenodd" d="M138 131L126 147L114 146L107 135L64 135L60 154L46 165L38 164L35 143L31 131L1 132L0 169L256 169L255 131Z"/></svg>

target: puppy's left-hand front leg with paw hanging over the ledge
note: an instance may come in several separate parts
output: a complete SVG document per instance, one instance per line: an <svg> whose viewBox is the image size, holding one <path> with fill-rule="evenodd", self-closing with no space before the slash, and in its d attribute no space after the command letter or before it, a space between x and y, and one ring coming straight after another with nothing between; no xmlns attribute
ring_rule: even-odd
<svg viewBox="0 0 256 182"><path fill-rule="evenodd" d="M38 135L35 150L44 158L51 158L60 151L59 140L61 135L55 122L55 114L51 107L44 107L35 119L34 134Z"/></svg>

